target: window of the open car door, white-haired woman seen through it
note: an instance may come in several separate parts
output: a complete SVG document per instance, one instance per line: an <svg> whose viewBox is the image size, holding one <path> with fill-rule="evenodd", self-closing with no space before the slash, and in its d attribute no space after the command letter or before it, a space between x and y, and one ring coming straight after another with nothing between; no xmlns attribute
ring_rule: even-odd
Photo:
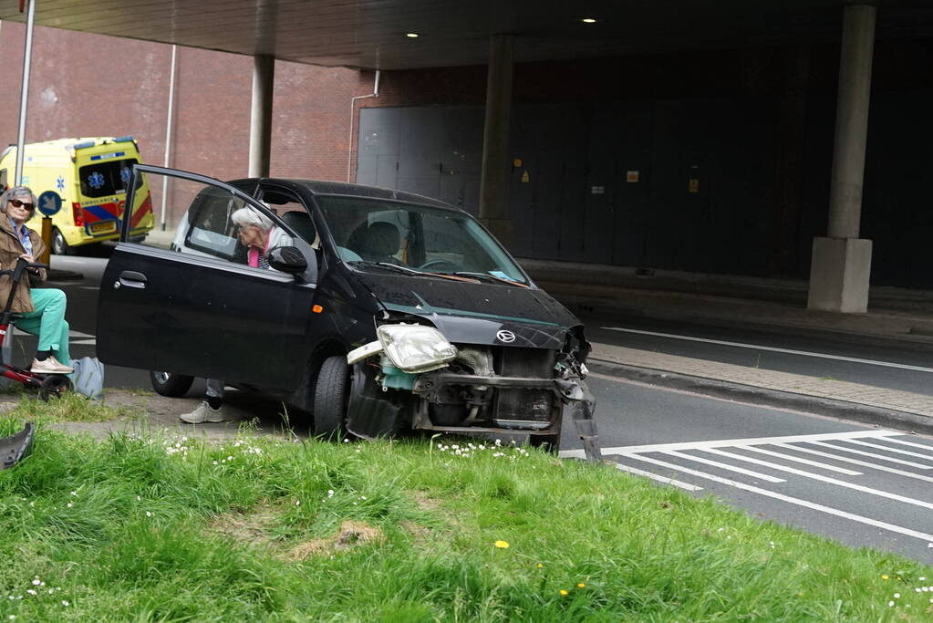
<svg viewBox="0 0 933 623"><path fill-rule="evenodd" d="M270 249L294 243L272 209L261 211L226 188L159 173L146 178L153 194L164 193L166 228L150 231L140 244L264 269ZM244 232L249 223L257 227Z"/></svg>

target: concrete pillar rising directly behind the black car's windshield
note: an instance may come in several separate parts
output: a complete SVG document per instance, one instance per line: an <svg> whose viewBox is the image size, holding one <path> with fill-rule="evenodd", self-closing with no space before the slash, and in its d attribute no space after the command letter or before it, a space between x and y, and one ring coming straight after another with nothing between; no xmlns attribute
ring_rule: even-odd
<svg viewBox="0 0 933 623"><path fill-rule="evenodd" d="M489 43L486 78L486 122L482 133L480 222L501 242L512 242L508 218L508 118L512 104L512 35L494 35Z"/></svg>

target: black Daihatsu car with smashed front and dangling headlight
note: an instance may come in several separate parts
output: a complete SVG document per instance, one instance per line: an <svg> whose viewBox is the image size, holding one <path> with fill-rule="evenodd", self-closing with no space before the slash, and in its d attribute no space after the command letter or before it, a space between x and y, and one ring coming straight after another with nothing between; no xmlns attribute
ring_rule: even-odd
<svg viewBox="0 0 933 623"><path fill-rule="evenodd" d="M105 363L152 370L162 395L194 377L260 391L311 412L315 435L521 434L556 450L569 418L598 454L583 326L463 210L336 182L132 174L179 216L171 242L131 242L123 224L101 284ZM268 267L249 265L243 208L278 229Z"/></svg>

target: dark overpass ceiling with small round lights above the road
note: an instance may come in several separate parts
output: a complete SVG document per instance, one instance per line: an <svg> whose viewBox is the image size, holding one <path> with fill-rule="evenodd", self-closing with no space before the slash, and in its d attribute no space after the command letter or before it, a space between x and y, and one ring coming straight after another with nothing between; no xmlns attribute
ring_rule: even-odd
<svg viewBox="0 0 933 623"><path fill-rule="evenodd" d="M37 24L369 69L484 64L489 37L548 61L836 41L850 0L36 0ZM0 19L25 21L20 0ZM876 0L877 37L933 35L928 0ZM581 20L593 18L595 23ZM416 38L406 36L416 33Z"/></svg>

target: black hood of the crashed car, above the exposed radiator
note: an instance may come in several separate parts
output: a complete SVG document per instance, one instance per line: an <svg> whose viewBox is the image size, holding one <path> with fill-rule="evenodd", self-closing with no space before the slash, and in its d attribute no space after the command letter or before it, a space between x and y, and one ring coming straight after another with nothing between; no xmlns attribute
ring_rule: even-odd
<svg viewBox="0 0 933 623"><path fill-rule="evenodd" d="M560 349L567 329L580 324L542 290L404 275L356 276L386 310L422 316L452 342Z"/></svg>

